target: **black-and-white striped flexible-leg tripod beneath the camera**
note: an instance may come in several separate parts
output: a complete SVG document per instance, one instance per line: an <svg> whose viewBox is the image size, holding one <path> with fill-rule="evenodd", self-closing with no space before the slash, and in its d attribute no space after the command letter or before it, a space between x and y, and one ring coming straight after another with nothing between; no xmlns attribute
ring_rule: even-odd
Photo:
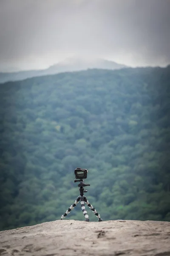
<svg viewBox="0 0 170 256"><path fill-rule="evenodd" d="M61 216L61 220L63 218L65 218L70 212L72 209L74 209L74 207L79 203L80 201L80 204L81 204L81 208L82 208L82 212L85 216L85 221L90 221L89 218L88 218L88 213L87 211L85 210L85 204L87 204L87 206L94 212L94 214L96 215L96 217L99 219L98 221L102 221L102 219L100 218L100 215L99 213L96 211L96 209L94 209L93 205L91 205L89 203L89 201L87 200L87 198L85 197L84 193L85 192L88 192L87 190L84 190L84 186L90 186L90 184L85 184L83 183L84 180L80 179L80 180L74 180L74 182L79 182L78 184L78 187L79 187L79 192L80 192L80 195L78 196L77 200L74 202L73 205L71 205L71 207L68 208L68 210L64 213L64 215Z"/></svg>

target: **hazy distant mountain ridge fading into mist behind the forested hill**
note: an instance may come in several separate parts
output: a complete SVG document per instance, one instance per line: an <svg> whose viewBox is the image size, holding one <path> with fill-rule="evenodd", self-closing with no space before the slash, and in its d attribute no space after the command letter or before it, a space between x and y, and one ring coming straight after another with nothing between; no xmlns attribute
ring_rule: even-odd
<svg viewBox="0 0 170 256"><path fill-rule="evenodd" d="M6 81L19 81L35 76L45 76L62 72L87 70L91 68L118 70L126 67L127 66L123 64L118 64L114 61L108 61L105 59L85 59L72 57L66 58L64 61L54 64L45 70L26 70L10 73L0 72L0 83L4 83Z"/></svg>

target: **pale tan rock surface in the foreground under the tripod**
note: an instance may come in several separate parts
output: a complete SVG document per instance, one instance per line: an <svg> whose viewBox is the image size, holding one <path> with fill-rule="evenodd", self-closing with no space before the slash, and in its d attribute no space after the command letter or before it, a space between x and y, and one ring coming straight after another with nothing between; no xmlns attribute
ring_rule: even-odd
<svg viewBox="0 0 170 256"><path fill-rule="evenodd" d="M170 256L170 222L45 222L1 231L0 255Z"/></svg>

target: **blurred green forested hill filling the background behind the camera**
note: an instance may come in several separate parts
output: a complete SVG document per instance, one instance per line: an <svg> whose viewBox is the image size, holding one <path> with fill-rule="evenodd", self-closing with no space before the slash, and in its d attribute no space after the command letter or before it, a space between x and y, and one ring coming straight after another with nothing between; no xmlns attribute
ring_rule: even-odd
<svg viewBox="0 0 170 256"><path fill-rule="evenodd" d="M170 66L0 84L1 230L60 219L76 167L104 220L170 221L169 159ZM67 219L84 220L75 208Z"/></svg>

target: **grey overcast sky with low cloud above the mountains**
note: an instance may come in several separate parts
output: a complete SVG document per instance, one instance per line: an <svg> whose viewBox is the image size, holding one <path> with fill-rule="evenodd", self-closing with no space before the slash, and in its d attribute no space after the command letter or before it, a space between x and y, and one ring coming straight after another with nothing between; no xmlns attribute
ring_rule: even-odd
<svg viewBox="0 0 170 256"><path fill-rule="evenodd" d="M170 64L170 0L0 0L0 70L72 55Z"/></svg>

